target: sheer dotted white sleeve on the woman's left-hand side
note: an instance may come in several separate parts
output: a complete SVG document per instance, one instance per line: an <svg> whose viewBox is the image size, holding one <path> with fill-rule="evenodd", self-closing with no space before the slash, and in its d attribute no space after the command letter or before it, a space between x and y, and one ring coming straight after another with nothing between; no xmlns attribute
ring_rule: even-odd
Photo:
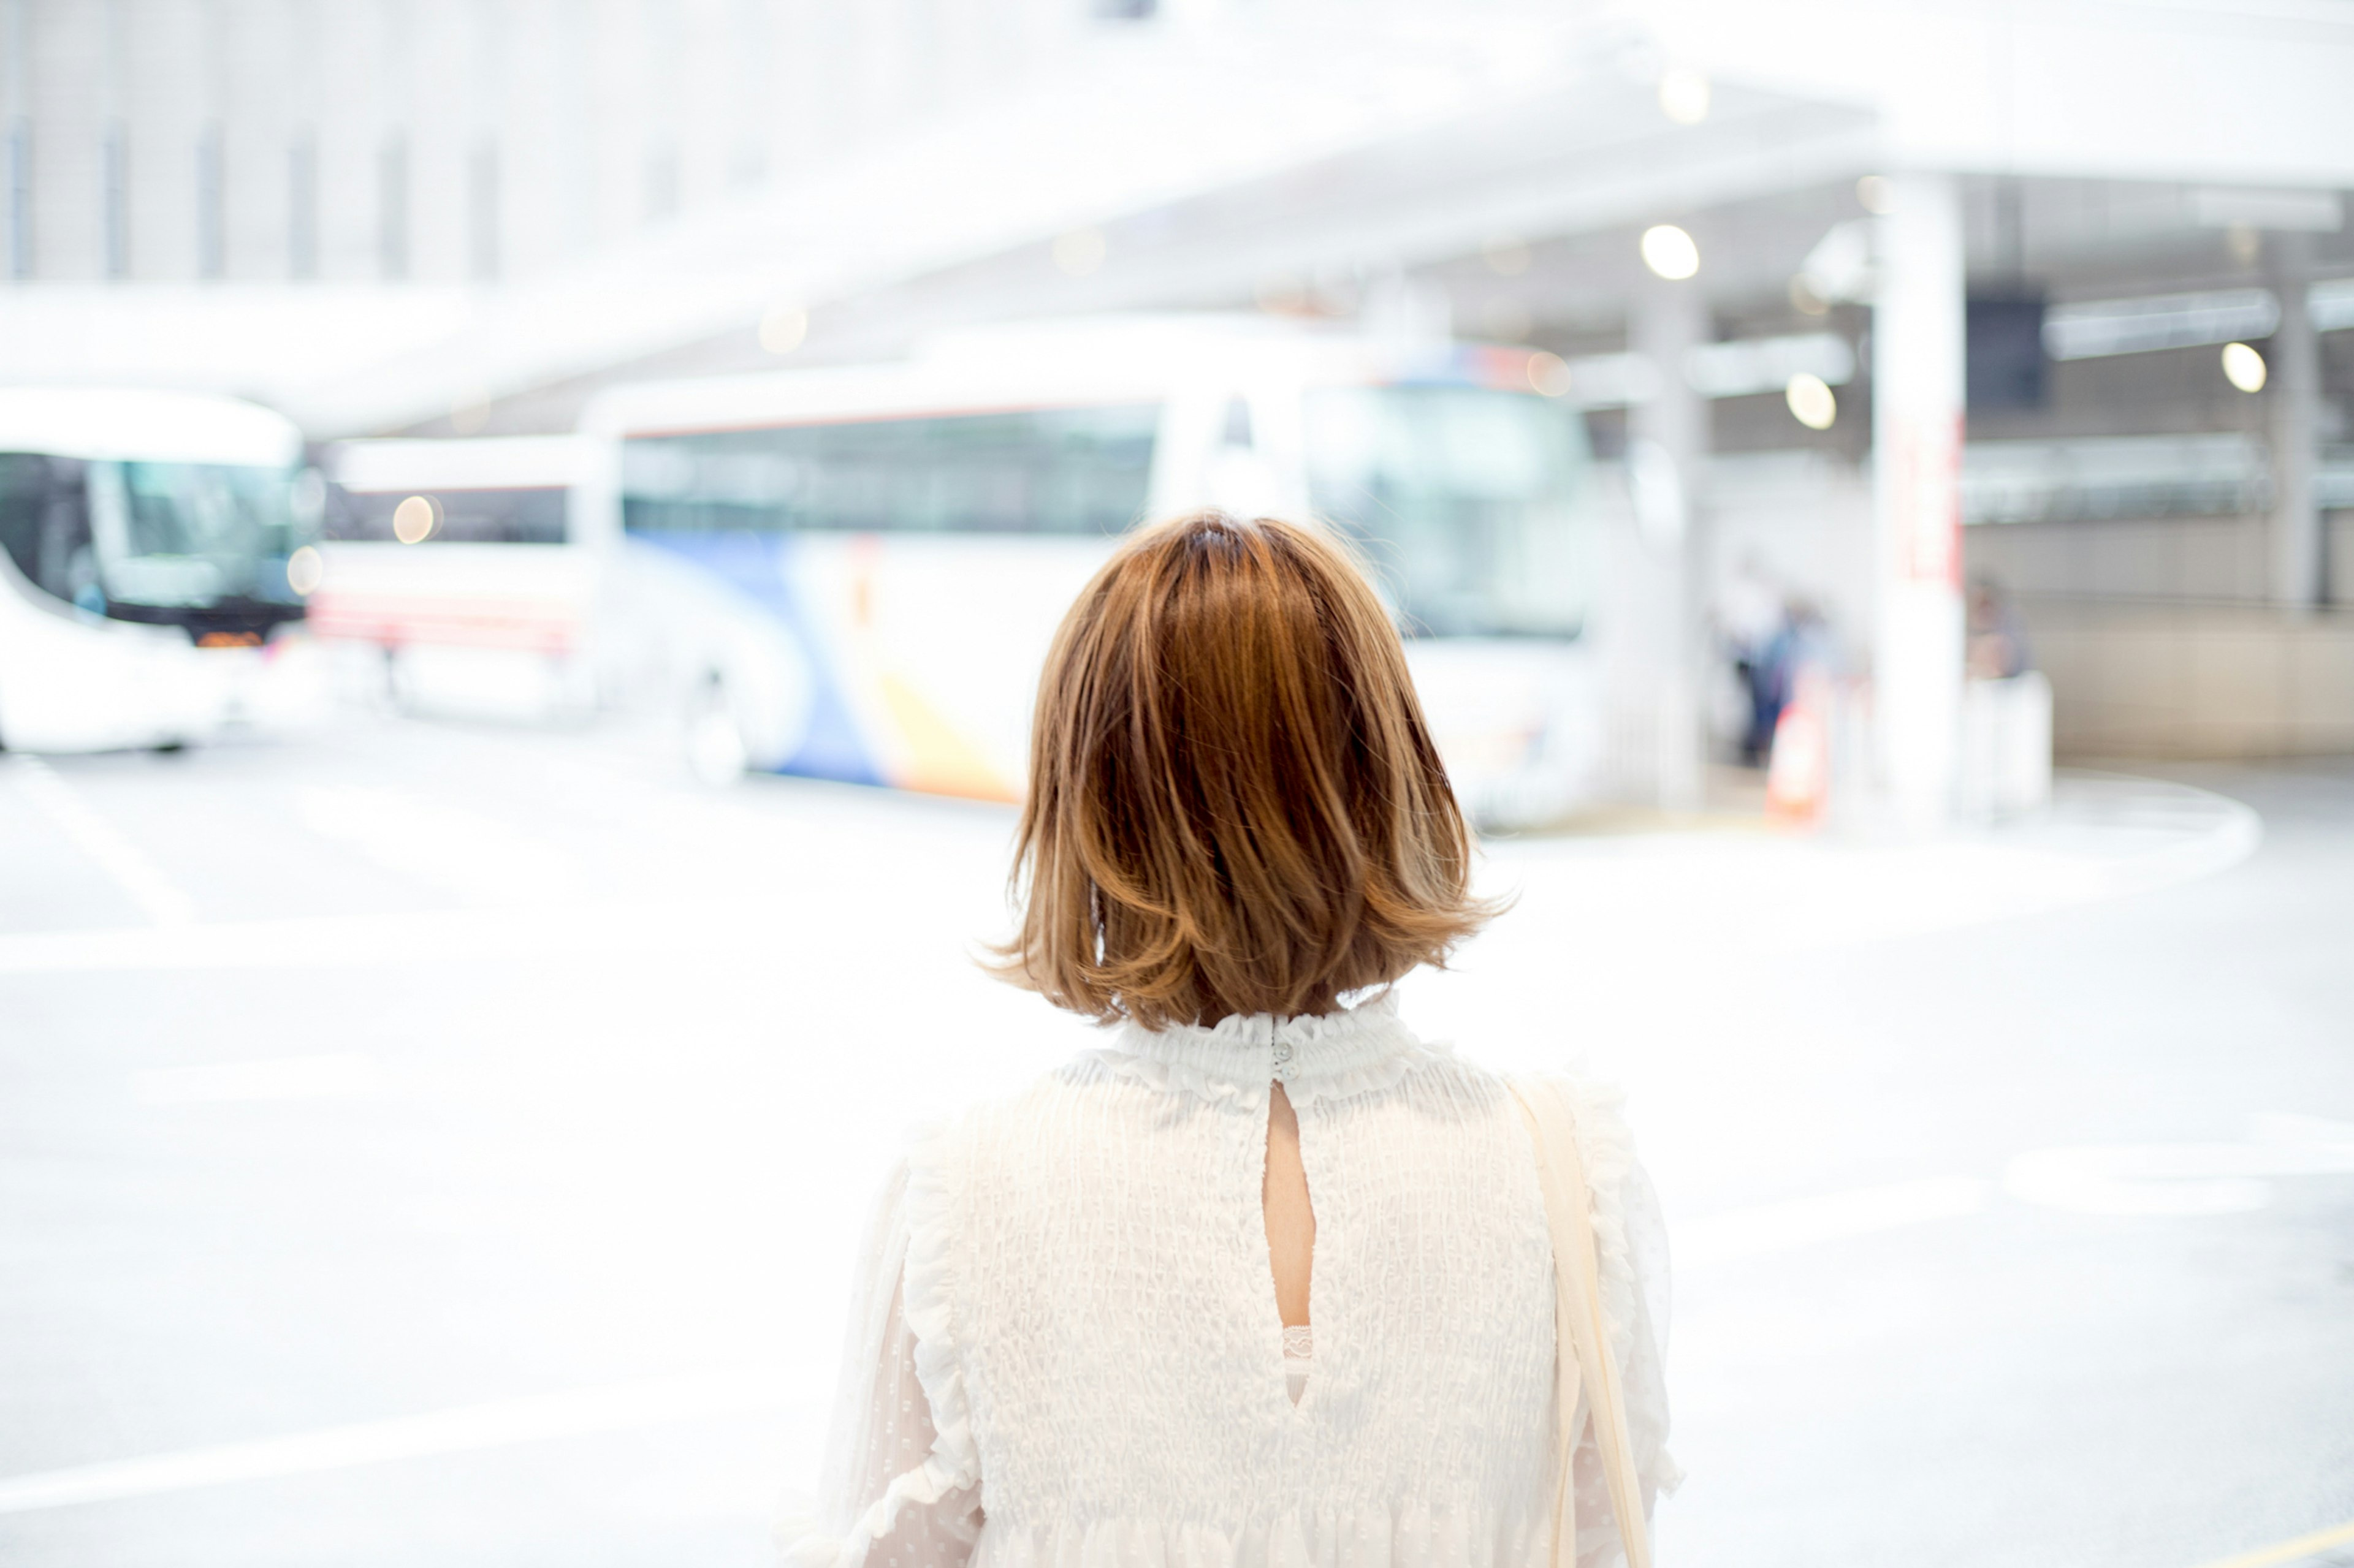
<svg viewBox="0 0 2354 1568"><path fill-rule="evenodd" d="M979 1464L963 1422L942 1434L935 1420L918 1363L939 1356L909 1321L909 1184L902 1163L859 1257L824 1479L814 1507L789 1504L779 1519L784 1568L965 1568L979 1540Z"/></svg>

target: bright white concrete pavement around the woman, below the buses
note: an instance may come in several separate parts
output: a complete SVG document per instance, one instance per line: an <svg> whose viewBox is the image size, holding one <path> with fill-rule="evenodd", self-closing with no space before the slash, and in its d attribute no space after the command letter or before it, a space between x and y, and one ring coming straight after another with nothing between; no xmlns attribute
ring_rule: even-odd
<svg viewBox="0 0 2354 1568"><path fill-rule="evenodd" d="M2354 768L2177 782L1490 845L1405 1005L1631 1088L1662 1561L2354 1521ZM895 1140L1085 1036L970 963L1008 826L398 720L0 760L0 1561L767 1561Z"/></svg>

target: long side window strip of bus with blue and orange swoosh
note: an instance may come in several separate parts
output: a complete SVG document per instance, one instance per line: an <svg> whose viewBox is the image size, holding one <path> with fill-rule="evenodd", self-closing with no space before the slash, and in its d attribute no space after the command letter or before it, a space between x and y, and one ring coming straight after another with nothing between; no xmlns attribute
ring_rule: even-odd
<svg viewBox="0 0 2354 1568"><path fill-rule="evenodd" d="M1113 534L1151 487L1156 405L640 436L631 532Z"/></svg>

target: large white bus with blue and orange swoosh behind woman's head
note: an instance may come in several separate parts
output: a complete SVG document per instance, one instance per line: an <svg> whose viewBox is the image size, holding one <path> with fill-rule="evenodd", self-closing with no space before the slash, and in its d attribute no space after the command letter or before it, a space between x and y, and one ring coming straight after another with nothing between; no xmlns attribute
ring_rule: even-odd
<svg viewBox="0 0 2354 1568"><path fill-rule="evenodd" d="M1551 374L1549 374L1551 372ZM584 537L713 772L1015 798L1052 629L1139 518L1217 504L1354 539L1469 810L1577 805L1589 452L1558 360L1278 323L972 332L897 365L598 396Z"/></svg>

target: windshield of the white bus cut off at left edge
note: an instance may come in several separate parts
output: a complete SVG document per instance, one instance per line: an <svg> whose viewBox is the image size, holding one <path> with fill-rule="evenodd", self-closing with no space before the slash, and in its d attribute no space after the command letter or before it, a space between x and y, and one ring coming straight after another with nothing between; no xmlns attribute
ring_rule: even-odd
<svg viewBox="0 0 2354 1568"><path fill-rule="evenodd" d="M245 464L92 464L97 574L115 605L292 603L287 556L318 516L318 478Z"/></svg>

